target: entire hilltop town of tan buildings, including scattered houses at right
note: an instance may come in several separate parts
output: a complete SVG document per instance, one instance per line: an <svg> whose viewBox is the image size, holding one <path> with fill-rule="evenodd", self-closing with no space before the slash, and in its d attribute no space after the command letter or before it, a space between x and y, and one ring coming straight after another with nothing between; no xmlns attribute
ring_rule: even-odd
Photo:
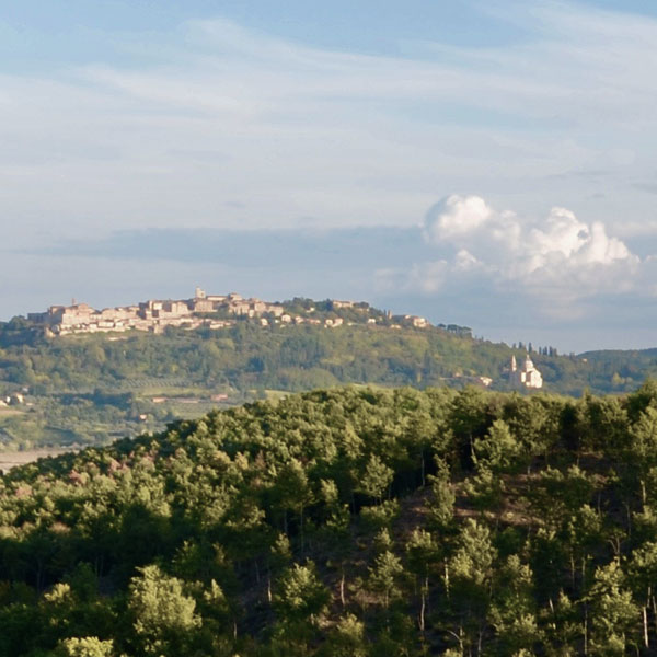
<svg viewBox="0 0 657 657"><path fill-rule="evenodd" d="M354 309L361 311L361 322L377 324L377 316L370 316L369 304L356 301L328 300L325 302L333 316L313 316L314 306L302 308L302 312L287 311L283 303L272 303L256 298L245 299L232 292L208 295L196 288L191 299L150 299L134 306L122 306L95 310L87 303L50 306L45 312L30 313L27 320L43 326L48 337L79 333L110 333L145 331L162 333L168 326L194 330L210 330L231 326L239 319L252 319L262 326L273 324L315 324L336 328L345 323L344 318L335 316L339 311ZM426 328L430 323L417 315L384 315L391 328L411 325ZM354 323L354 322L350 322Z"/></svg>

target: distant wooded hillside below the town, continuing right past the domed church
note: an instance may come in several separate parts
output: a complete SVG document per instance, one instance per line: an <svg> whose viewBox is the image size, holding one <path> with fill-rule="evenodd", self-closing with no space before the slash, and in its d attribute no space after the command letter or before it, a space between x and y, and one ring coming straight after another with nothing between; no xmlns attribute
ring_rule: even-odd
<svg viewBox="0 0 657 657"><path fill-rule="evenodd" d="M56 338L23 319L0 324L0 397L25 397L0 406L0 449L106 443L216 406L344 383L462 388L487 377L505 390L511 355L526 353L473 338L466 327L418 327L416 318L366 303L295 299L281 308L307 323L239 316L220 330ZM634 390L657 373L655 355L642 354L576 357L538 348L531 356L545 390L579 395Z"/></svg>

